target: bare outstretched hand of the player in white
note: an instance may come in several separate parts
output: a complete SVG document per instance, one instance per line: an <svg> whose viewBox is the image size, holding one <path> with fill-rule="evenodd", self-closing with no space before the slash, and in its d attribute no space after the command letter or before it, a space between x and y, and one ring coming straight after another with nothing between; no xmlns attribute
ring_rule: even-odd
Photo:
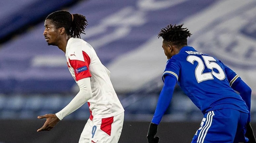
<svg viewBox="0 0 256 143"><path fill-rule="evenodd" d="M37 131L51 131L51 129L60 121L55 114L45 114L43 116L38 116L38 119L46 118L45 124L42 128Z"/></svg>

